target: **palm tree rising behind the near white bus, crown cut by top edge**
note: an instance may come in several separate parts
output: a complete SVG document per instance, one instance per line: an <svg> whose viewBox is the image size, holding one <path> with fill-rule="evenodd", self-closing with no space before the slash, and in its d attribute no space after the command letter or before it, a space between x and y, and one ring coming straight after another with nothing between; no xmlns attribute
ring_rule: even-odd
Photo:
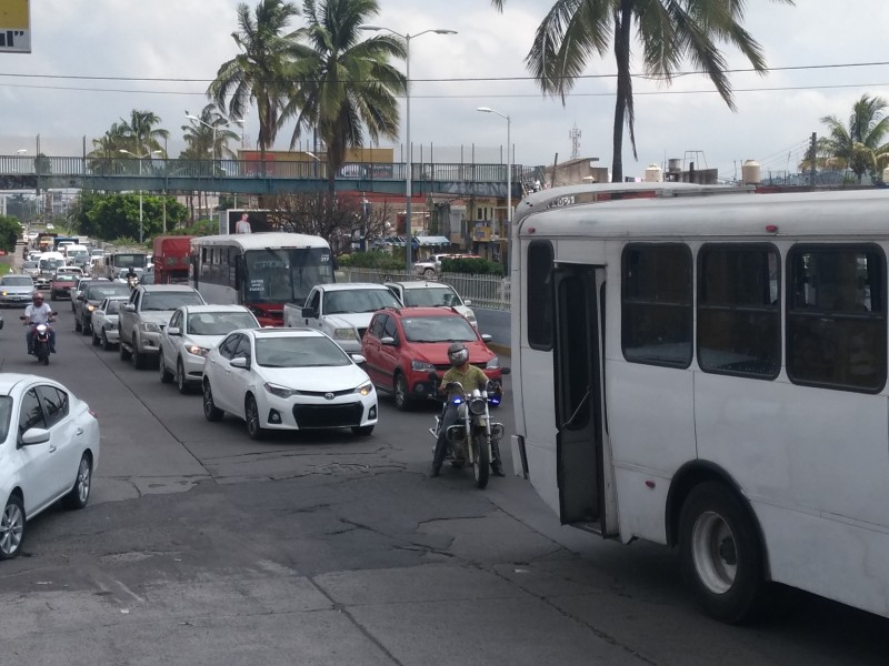
<svg viewBox="0 0 889 666"><path fill-rule="evenodd" d="M793 4L793 0L775 0ZM491 0L502 10L506 0ZM612 134L611 180L623 180L623 124L630 133L633 158L636 129L630 71L633 28L642 47L647 75L669 83L683 60L706 73L719 95L735 110L726 59L718 44L738 48L753 69L766 72L762 48L741 26L745 0L556 0L537 28L528 69L545 94L565 103L590 57L613 49L617 100Z"/></svg>

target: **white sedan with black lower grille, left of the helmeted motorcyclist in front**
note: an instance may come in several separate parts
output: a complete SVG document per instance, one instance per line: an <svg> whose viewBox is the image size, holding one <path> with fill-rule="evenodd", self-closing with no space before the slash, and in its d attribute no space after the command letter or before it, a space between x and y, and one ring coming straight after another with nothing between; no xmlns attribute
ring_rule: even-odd
<svg viewBox="0 0 889 666"><path fill-rule="evenodd" d="M233 331L207 355L203 415L243 418L253 440L267 430L351 427L370 435L377 392L358 366L363 362L321 331Z"/></svg>

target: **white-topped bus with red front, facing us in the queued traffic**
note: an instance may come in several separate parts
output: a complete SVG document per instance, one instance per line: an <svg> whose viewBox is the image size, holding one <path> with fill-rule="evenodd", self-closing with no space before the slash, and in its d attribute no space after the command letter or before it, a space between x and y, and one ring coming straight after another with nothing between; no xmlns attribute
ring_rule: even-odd
<svg viewBox="0 0 889 666"><path fill-rule="evenodd" d="M196 236L189 283L208 303L246 305L263 326L283 325L283 304L304 303L316 284L333 282L328 242L299 233Z"/></svg>

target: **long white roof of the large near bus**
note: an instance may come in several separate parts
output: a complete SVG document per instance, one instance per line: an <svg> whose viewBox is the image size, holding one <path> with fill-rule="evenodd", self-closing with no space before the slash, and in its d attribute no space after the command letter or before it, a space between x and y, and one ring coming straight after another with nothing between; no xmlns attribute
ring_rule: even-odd
<svg viewBox="0 0 889 666"><path fill-rule="evenodd" d="M752 189L713 185L677 188L682 183L629 184L646 188L628 189L627 184L616 183L609 190L581 185L532 194L522 200L516 215L517 234L527 240L700 236L865 240L889 235L889 189L756 193ZM595 199L603 191L619 191L627 196Z"/></svg>

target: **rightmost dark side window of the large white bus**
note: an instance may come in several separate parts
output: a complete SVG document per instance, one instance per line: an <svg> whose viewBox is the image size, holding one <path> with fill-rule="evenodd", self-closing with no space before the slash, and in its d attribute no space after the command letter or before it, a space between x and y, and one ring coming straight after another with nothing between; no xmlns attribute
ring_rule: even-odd
<svg viewBox="0 0 889 666"><path fill-rule="evenodd" d="M877 245L795 245L787 374L796 384L877 393L886 384L886 256Z"/></svg>

